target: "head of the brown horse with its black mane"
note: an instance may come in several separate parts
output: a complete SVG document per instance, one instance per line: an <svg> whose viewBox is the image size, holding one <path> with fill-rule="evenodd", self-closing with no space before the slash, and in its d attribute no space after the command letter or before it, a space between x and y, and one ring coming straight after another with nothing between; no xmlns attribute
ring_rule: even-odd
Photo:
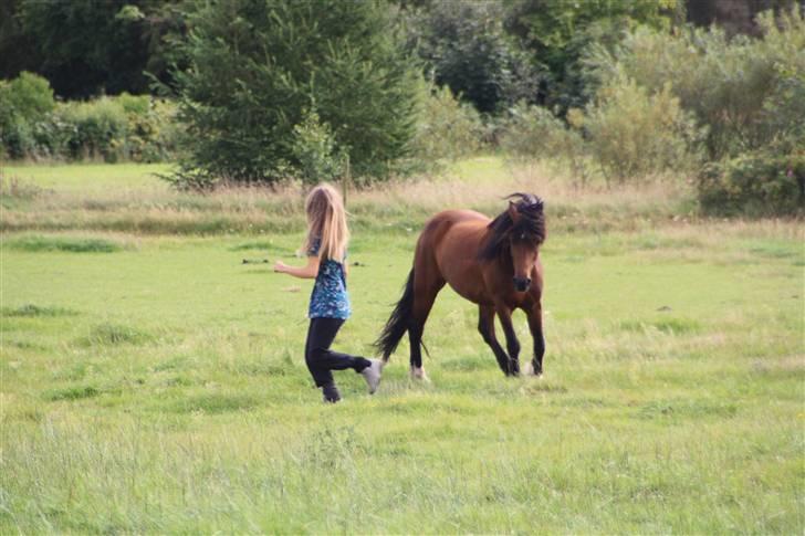
<svg viewBox="0 0 805 536"><path fill-rule="evenodd" d="M545 241L543 202L531 193L512 193L506 199L509 209L489 224L491 235L481 258L509 256L514 270L514 290L526 292L540 246Z"/></svg>

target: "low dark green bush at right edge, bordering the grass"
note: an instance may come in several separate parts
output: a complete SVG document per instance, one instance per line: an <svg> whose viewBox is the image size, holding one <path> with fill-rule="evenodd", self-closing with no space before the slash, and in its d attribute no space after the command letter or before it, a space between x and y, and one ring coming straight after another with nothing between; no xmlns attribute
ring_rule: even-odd
<svg viewBox="0 0 805 536"><path fill-rule="evenodd" d="M756 151L704 167L699 201L705 212L753 217L805 213L805 149Z"/></svg>

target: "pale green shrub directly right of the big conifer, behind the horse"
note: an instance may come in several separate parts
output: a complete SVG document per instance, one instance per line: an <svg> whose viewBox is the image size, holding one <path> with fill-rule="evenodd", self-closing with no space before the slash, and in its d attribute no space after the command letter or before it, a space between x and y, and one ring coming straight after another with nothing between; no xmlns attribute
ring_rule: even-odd
<svg viewBox="0 0 805 536"><path fill-rule="evenodd" d="M422 84L411 153L425 167L477 154L484 133L481 116L449 86Z"/></svg>

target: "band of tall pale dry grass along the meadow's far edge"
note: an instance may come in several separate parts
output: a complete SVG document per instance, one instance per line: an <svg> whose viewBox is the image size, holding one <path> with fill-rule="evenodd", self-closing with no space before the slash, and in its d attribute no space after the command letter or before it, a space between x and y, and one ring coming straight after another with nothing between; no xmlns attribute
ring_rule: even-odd
<svg viewBox="0 0 805 536"><path fill-rule="evenodd" d="M4 195L0 229L93 230L142 234L260 233L300 230L304 188L226 187L212 193L165 190L164 187L21 189ZM417 227L445 208L470 208L494 214L503 197L529 191L546 200L554 229L640 229L657 220L687 218L689 192L652 181L618 190L572 186L540 165L509 166L499 158L479 158L438 177L393 180L347 192L358 228ZM29 195L29 192L33 192ZM680 214L682 214L680 217Z"/></svg>

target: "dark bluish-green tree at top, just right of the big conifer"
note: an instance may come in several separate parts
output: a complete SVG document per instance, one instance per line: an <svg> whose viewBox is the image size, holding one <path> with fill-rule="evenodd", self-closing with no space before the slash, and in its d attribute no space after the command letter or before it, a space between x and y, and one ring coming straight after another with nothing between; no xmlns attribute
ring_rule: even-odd
<svg viewBox="0 0 805 536"><path fill-rule="evenodd" d="M432 2L404 18L407 46L432 70L438 85L495 113L536 97L539 77L503 29L500 2Z"/></svg>

